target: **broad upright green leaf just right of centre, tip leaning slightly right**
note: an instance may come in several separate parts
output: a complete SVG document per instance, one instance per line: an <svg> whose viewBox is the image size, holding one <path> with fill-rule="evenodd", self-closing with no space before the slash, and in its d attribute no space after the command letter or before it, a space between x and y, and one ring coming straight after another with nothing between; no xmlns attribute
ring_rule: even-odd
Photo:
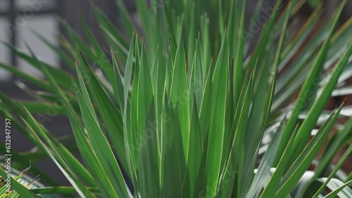
<svg viewBox="0 0 352 198"><path fill-rule="evenodd" d="M211 82L214 89L211 93L212 100L207 145L209 149L207 149L206 153L206 187L211 196L215 196L218 191L222 161L222 141L225 131L225 108L228 86L227 78L230 64L227 52L226 37L224 37Z"/></svg>

